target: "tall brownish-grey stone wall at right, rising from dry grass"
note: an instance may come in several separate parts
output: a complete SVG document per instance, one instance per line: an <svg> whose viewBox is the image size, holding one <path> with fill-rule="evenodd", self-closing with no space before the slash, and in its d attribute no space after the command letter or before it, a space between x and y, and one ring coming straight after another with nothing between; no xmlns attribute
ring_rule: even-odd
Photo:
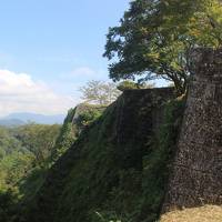
<svg viewBox="0 0 222 222"><path fill-rule="evenodd" d="M193 51L178 151L163 211L222 204L222 50Z"/></svg>

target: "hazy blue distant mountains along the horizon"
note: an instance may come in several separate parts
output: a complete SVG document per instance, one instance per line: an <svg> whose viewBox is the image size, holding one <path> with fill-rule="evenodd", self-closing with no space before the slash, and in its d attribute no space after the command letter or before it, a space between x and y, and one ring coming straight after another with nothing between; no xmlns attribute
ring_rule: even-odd
<svg viewBox="0 0 222 222"><path fill-rule="evenodd" d="M64 120L63 114L43 115L29 112L11 113L8 117L0 119L0 125L20 125L28 122L36 122L40 124L62 124ZM10 124L4 124L10 123ZM11 124L13 123L13 124Z"/></svg>

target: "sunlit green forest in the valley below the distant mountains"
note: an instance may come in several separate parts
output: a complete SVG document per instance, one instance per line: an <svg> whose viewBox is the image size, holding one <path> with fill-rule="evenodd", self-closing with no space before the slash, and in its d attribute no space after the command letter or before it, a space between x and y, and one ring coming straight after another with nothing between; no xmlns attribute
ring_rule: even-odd
<svg viewBox="0 0 222 222"><path fill-rule="evenodd" d="M44 180L60 125L0 128L0 218L16 220L21 202Z"/></svg>

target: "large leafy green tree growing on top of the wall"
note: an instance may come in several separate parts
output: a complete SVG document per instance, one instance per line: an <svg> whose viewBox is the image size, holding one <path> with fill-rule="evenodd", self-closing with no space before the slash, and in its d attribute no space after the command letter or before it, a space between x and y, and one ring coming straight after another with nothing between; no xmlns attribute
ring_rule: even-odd
<svg viewBox="0 0 222 222"><path fill-rule="evenodd" d="M196 47L222 43L219 0L134 0L120 26L109 29L104 57L113 80L163 78L183 93Z"/></svg>

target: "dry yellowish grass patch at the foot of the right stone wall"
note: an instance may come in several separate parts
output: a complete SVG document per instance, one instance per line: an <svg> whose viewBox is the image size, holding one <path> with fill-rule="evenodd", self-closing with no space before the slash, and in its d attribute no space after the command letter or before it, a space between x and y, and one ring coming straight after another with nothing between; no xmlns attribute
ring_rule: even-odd
<svg viewBox="0 0 222 222"><path fill-rule="evenodd" d="M205 205L162 215L160 222L222 222L222 206Z"/></svg>

